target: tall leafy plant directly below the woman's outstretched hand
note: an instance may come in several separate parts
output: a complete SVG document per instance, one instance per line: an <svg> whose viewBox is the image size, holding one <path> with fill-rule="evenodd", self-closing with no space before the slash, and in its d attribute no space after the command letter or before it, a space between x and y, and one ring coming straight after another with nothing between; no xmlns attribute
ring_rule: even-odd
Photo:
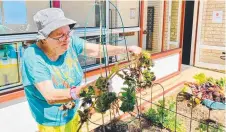
<svg viewBox="0 0 226 132"><path fill-rule="evenodd" d="M136 104L136 89L147 88L152 85L155 80L154 73L150 71L153 66L151 55L143 51L139 58L136 58L136 64L127 70L122 70L123 74L117 73L124 80L126 88L122 88L122 96L119 98L122 101L120 110L130 112L134 110Z"/></svg>

